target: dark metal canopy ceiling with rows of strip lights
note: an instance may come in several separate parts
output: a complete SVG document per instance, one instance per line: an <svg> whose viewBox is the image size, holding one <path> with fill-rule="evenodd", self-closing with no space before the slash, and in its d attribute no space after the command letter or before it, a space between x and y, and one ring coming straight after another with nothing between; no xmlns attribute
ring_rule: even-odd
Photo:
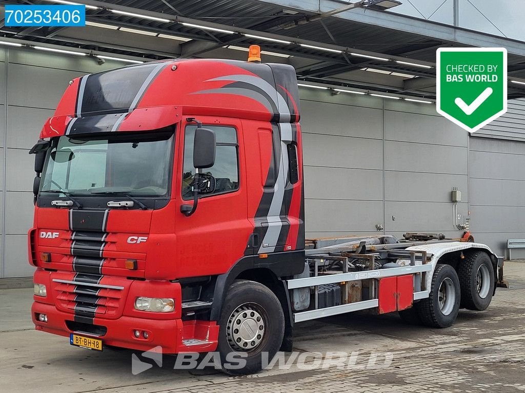
<svg viewBox="0 0 525 393"><path fill-rule="evenodd" d="M179 57L246 59L244 50L256 43L265 51L263 61L293 65L298 79L307 84L427 100L435 99L436 49L457 45L424 34L268 1L78 0L78 3L97 7L87 9L90 26L5 27L1 9L0 36L29 47L71 47L145 61ZM5 4L53 2L0 0L0 5ZM345 4L348 3L341 3ZM250 37L254 35L264 38ZM525 82L525 57L509 53L508 69L509 78ZM525 84L509 82L508 94L509 99L525 96Z"/></svg>

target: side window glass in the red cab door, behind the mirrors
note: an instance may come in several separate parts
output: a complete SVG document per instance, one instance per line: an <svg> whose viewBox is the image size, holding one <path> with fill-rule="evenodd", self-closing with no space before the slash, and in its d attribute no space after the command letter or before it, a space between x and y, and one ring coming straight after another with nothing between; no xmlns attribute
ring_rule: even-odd
<svg viewBox="0 0 525 393"><path fill-rule="evenodd" d="M204 169L203 173L211 174L215 178L214 194L232 192L239 188L239 162L237 132L233 127L204 125L214 130L217 140L215 165ZM193 138L197 126L186 126L184 130L184 163L182 169L182 197L192 199L191 185L195 168L193 167Z"/></svg>

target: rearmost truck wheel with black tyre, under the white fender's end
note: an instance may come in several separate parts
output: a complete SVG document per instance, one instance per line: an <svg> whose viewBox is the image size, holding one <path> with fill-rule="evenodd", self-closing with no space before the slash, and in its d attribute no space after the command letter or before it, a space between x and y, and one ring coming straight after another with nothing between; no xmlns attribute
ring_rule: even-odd
<svg viewBox="0 0 525 393"><path fill-rule="evenodd" d="M482 311L489 307L494 290L494 270L487 253L478 251L466 256L458 268L461 305Z"/></svg>

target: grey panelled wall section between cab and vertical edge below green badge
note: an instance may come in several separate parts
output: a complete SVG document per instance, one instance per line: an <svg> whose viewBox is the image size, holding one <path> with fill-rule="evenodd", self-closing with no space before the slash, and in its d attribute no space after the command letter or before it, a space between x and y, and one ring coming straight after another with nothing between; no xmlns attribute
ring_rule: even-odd
<svg viewBox="0 0 525 393"><path fill-rule="evenodd" d="M461 234L450 191L466 215L467 132L429 104L300 93L307 236Z"/></svg>

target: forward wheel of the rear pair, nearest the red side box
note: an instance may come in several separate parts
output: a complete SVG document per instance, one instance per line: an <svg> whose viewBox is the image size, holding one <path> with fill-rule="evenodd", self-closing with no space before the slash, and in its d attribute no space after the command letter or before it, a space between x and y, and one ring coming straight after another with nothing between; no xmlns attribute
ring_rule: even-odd
<svg viewBox="0 0 525 393"><path fill-rule="evenodd" d="M450 265L437 265L432 276L429 297L416 304L423 324L432 328L451 326L458 315L460 294L456 270Z"/></svg>

